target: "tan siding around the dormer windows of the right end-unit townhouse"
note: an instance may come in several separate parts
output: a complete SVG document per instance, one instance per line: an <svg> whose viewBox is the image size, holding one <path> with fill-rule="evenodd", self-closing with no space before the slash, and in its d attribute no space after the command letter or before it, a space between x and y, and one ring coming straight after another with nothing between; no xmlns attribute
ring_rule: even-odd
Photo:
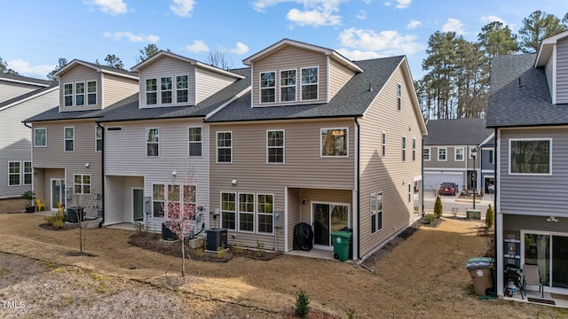
<svg viewBox="0 0 568 319"><path fill-rule="evenodd" d="M301 100L301 69L304 67L318 66L318 99L310 101ZM327 57L315 51L308 51L297 47L285 46L279 51L265 58L259 59L252 66L252 105L270 106L287 105L280 101L280 71L296 69L296 102L287 103L288 105L313 104L327 101ZM264 72L276 72L276 103L260 104L260 74Z"/></svg>

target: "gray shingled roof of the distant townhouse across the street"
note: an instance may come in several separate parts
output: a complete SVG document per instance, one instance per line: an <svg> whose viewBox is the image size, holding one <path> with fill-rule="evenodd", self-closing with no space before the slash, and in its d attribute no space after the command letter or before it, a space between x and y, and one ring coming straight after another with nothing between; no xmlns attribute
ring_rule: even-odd
<svg viewBox="0 0 568 319"><path fill-rule="evenodd" d="M493 133L484 119L429 120L424 145L478 145Z"/></svg>

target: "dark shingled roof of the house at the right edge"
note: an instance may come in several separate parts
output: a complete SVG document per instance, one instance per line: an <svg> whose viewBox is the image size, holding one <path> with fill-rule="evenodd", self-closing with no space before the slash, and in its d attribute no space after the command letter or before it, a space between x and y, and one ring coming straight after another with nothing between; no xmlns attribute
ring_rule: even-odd
<svg viewBox="0 0 568 319"><path fill-rule="evenodd" d="M568 123L568 105L552 105L546 74L534 67L535 58L535 53L493 58L488 128Z"/></svg>

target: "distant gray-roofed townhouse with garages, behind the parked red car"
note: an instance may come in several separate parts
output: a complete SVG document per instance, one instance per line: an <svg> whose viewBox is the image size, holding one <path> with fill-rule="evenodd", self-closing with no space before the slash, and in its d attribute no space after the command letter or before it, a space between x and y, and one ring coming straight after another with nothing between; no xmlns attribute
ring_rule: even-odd
<svg viewBox="0 0 568 319"><path fill-rule="evenodd" d="M493 183L493 130L485 128L485 120L429 120L426 127L424 189L438 191L440 183L453 182L459 191L488 191ZM473 149L477 150L475 169Z"/></svg>

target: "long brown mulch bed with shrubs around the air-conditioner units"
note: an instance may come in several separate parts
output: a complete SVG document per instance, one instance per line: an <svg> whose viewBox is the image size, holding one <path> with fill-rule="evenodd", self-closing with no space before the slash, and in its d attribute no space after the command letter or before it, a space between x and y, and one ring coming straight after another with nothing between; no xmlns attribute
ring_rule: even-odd
<svg viewBox="0 0 568 319"><path fill-rule="evenodd" d="M169 256L181 257L181 241L167 242L162 240L161 234L150 232L136 232L130 235L129 245L143 248L156 253ZM189 254L193 261L226 262L236 257L245 257L256 261L270 261L282 253L261 252L246 248L230 246L218 253L206 252L202 248L193 249L185 245L185 253Z"/></svg>

